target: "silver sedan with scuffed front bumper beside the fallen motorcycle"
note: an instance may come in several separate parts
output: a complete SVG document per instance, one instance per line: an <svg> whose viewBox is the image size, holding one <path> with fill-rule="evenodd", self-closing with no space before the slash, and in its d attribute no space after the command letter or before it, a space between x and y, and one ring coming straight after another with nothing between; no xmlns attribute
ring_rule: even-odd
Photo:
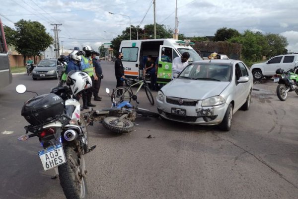
<svg viewBox="0 0 298 199"><path fill-rule="evenodd" d="M169 120L218 124L228 131L232 115L249 109L252 88L252 74L242 61L197 61L158 91L157 110Z"/></svg>

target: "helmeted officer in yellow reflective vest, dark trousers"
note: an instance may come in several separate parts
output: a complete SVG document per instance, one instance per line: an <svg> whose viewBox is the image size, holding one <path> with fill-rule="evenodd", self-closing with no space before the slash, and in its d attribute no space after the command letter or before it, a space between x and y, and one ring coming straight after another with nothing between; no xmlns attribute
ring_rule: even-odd
<svg viewBox="0 0 298 199"><path fill-rule="evenodd" d="M85 52L85 55L81 55L81 70L86 72L91 80L92 80L92 88L89 88L87 90L84 90L83 92L83 108L88 109L88 106L96 106L95 104L91 103L91 98L93 94L94 89L94 80L98 80L95 70L93 68L92 59L91 59L91 53L93 52L93 49L86 45L83 47L83 51Z"/></svg>

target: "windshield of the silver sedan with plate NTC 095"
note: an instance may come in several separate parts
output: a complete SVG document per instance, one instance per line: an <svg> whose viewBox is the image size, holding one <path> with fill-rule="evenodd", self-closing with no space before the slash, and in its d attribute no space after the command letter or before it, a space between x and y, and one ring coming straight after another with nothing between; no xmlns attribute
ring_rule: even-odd
<svg viewBox="0 0 298 199"><path fill-rule="evenodd" d="M231 64L192 63L180 73L178 78L229 82L231 79L231 69Z"/></svg>

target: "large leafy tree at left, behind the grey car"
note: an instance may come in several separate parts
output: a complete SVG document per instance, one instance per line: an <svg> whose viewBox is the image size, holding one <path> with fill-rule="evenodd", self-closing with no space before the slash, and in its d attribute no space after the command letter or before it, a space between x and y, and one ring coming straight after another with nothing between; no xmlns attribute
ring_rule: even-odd
<svg viewBox="0 0 298 199"><path fill-rule="evenodd" d="M24 56L40 56L42 51L45 51L53 44L53 37L46 32L45 26L38 21L19 20L14 24L15 32L8 30L8 34L14 36L9 41L15 46L15 50Z"/></svg>

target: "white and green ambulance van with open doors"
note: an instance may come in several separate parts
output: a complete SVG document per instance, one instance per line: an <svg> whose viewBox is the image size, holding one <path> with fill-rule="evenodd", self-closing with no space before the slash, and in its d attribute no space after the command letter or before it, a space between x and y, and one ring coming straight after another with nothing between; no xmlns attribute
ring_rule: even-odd
<svg viewBox="0 0 298 199"><path fill-rule="evenodd" d="M170 38L123 40L119 51L123 53L122 63L125 76L134 79L140 78L147 56L151 55L154 61L158 58L157 83L168 83L172 78L172 63L161 62L161 51L163 50L171 61L178 56L181 57L184 52L189 52L189 62L202 60L190 46L191 44L194 43Z"/></svg>

